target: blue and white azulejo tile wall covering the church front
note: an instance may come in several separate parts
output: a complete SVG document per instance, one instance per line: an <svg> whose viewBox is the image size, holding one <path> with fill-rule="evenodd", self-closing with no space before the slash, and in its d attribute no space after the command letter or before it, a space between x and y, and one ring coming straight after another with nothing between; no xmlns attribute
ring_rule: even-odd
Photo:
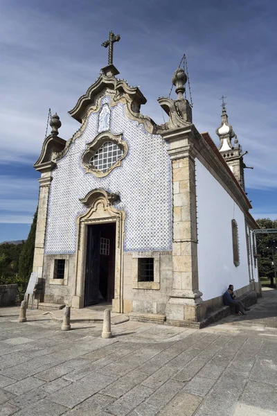
<svg viewBox="0 0 277 416"><path fill-rule="evenodd" d="M102 98L102 105L109 97ZM80 202L93 189L117 193L117 209L124 209L125 251L171 250L172 193L168 144L159 135L150 135L143 124L127 118L124 105L110 108L110 129L123 134L128 153L122 165L109 175L97 178L84 173L80 162L86 144L98 135L98 113L89 116L87 127L57 162L51 182L46 254L70 254L76 250L76 218L87 211Z"/></svg>

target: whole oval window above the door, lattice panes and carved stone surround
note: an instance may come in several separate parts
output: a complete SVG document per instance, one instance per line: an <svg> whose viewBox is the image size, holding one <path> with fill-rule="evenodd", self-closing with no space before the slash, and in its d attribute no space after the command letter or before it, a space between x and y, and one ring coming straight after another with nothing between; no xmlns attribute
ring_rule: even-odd
<svg viewBox="0 0 277 416"><path fill-rule="evenodd" d="M105 177L118 166L126 157L128 145L122 135L112 135L102 132L87 144L82 155L82 165L86 173L93 173L96 177Z"/></svg>

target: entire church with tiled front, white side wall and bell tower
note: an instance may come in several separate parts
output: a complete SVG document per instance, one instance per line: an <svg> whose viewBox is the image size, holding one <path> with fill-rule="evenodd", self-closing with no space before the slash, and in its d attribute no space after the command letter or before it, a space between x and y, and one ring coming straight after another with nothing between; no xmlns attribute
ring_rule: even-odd
<svg viewBox="0 0 277 416"><path fill-rule="evenodd" d="M132 319L199 326L229 284L239 295L260 293L242 150L224 105L220 149L199 134L183 69L172 78L177 99L158 100L163 125L141 114L145 97L116 75L109 55L69 112L80 123L71 139L59 136L57 114L51 119L35 163L33 272L44 302L111 302Z"/></svg>

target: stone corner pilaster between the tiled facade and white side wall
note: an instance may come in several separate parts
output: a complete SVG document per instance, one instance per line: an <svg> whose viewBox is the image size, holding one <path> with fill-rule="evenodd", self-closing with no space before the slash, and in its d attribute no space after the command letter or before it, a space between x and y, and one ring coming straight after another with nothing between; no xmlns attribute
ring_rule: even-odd
<svg viewBox="0 0 277 416"><path fill-rule="evenodd" d="M190 128L163 135L170 142L173 194L172 291L166 319L193 324L206 313L198 285L194 135Z"/></svg>

